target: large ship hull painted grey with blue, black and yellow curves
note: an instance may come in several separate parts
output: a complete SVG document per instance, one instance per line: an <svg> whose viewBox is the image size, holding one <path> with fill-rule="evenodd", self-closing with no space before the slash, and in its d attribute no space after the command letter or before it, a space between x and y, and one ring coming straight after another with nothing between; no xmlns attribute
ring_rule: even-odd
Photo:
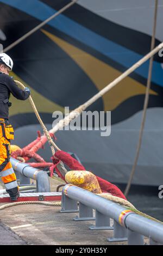
<svg viewBox="0 0 163 256"><path fill-rule="evenodd" d="M68 2L0 1L0 43L7 47ZM150 51L153 13L153 1L149 0L79 1L8 52L14 59L11 75L30 87L48 129L52 128L54 111L78 107ZM156 45L163 40L161 13L159 1ZM162 180L162 63L156 54L135 185L159 186ZM82 128L56 133L62 150L76 153L86 169L111 182L126 184L133 166L148 64L86 109L111 111L110 136L102 137L100 130ZM35 139L40 126L29 102L14 97L11 100L14 143L24 147ZM49 161L48 145L39 153Z"/></svg>

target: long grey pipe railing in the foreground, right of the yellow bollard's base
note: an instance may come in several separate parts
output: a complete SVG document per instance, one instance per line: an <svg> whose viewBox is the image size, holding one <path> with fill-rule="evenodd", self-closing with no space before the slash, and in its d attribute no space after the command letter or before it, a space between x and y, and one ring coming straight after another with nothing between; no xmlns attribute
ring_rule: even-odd
<svg viewBox="0 0 163 256"><path fill-rule="evenodd" d="M128 245L143 245L146 236L150 245L163 244L162 223L71 184L62 190L61 212L79 212L74 221L95 220L96 224L89 227L91 230L113 229L114 236L108 239L109 242L128 241ZM110 218L114 220L113 227L110 227Z"/></svg>

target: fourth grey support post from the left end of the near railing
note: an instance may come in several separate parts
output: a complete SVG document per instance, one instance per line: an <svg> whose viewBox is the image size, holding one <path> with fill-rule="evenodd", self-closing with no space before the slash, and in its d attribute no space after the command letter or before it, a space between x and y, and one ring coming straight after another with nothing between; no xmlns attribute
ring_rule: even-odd
<svg viewBox="0 0 163 256"><path fill-rule="evenodd" d="M114 220L114 237L107 239L109 242L127 241L127 229Z"/></svg>

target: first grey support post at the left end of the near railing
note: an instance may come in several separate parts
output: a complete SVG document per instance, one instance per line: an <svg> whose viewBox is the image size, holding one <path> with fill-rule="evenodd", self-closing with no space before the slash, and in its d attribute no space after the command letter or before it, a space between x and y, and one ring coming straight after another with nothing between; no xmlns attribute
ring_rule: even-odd
<svg viewBox="0 0 163 256"><path fill-rule="evenodd" d="M78 202L71 198L66 197L66 195L62 192L60 212L62 214L68 212L79 212Z"/></svg>

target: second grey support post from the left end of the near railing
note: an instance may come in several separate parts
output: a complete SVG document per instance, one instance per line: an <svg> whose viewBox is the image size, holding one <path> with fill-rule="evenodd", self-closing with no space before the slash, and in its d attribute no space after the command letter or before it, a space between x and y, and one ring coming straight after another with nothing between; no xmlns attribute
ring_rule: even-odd
<svg viewBox="0 0 163 256"><path fill-rule="evenodd" d="M74 221L94 221L92 208L79 202L79 217L73 218Z"/></svg>

